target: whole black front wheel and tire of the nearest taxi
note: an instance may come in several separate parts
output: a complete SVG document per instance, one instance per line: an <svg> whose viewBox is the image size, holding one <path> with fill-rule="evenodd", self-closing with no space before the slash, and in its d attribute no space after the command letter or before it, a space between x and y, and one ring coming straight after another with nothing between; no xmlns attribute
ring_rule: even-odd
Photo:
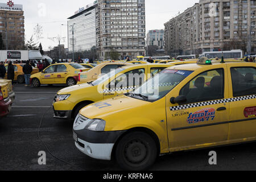
<svg viewBox="0 0 256 182"><path fill-rule="evenodd" d="M141 131L125 135L115 148L118 165L128 171L143 171L150 168L157 155L155 140Z"/></svg>

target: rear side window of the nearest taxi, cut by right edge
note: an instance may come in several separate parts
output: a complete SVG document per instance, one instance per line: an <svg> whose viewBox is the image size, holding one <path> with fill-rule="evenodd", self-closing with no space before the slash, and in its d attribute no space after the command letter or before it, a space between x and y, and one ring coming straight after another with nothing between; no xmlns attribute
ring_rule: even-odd
<svg viewBox="0 0 256 182"><path fill-rule="evenodd" d="M256 94L256 68L231 68L233 96Z"/></svg>

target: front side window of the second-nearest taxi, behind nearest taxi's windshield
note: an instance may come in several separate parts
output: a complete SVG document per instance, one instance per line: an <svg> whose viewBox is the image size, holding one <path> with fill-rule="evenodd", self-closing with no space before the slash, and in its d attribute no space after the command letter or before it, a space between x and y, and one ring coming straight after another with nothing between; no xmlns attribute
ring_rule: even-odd
<svg viewBox="0 0 256 182"><path fill-rule="evenodd" d="M143 83L145 76L144 69L135 69L133 71L124 73L121 76L115 78L114 81L110 83L112 87L123 88L128 86L139 86ZM109 85L109 88L110 88Z"/></svg>

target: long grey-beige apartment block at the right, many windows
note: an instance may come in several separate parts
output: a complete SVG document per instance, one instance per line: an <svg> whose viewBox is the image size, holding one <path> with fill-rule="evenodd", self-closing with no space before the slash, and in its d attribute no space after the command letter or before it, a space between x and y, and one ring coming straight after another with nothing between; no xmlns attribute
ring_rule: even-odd
<svg viewBox="0 0 256 182"><path fill-rule="evenodd" d="M256 49L255 0L200 0L165 23L168 54L188 55L206 51Z"/></svg>

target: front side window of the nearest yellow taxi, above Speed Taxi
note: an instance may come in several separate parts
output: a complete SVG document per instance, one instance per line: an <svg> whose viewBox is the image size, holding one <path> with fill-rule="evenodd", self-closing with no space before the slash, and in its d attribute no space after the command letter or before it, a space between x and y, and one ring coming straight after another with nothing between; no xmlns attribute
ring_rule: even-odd
<svg viewBox="0 0 256 182"><path fill-rule="evenodd" d="M187 103L212 101L224 98L224 70L201 73L180 90Z"/></svg>

